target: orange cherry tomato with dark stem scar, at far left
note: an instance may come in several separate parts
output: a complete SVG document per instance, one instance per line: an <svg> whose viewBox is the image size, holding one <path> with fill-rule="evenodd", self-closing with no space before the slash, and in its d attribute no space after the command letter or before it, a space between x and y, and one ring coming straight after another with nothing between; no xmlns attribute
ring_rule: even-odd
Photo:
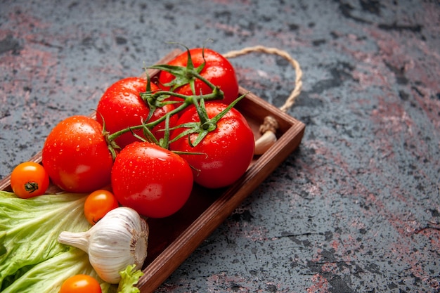
<svg viewBox="0 0 440 293"><path fill-rule="evenodd" d="M42 195L49 185L49 176L41 164L24 162L18 164L11 174L13 193L21 198Z"/></svg>

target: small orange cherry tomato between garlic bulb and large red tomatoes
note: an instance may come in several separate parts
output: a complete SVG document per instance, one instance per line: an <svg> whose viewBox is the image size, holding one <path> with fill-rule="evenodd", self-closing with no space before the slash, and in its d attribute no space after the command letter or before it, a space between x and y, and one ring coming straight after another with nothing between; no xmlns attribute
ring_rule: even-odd
<svg viewBox="0 0 440 293"><path fill-rule="evenodd" d="M115 195L108 190L93 191L84 202L84 216L91 225L95 225L112 209L119 207Z"/></svg>

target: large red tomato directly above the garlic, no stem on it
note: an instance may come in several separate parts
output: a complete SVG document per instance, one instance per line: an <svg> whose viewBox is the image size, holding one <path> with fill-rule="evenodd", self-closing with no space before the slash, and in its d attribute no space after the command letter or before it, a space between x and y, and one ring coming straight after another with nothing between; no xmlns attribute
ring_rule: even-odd
<svg viewBox="0 0 440 293"><path fill-rule="evenodd" d="M118 202L143 216L163 218L183 207L193 188L193 172L179 155L136 142L115 159L112 190Z"/></svg>

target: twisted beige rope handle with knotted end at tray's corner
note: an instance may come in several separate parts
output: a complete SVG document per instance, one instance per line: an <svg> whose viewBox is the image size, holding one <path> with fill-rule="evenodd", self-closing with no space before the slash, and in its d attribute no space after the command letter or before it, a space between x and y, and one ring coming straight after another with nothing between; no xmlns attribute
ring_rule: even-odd
<svg viewBox="0 0 440 293"><path fill-rule="evenodd" d="M296 78L295 78L295 88L292 90L290 95L285 100L284 105L280 107L280 110L283 112L287 112L292 105L297 100L299 94L302 90L302 70L298 61L292 58L286 51L280 50L278 48L268 48L265 46L253 46L242 48L238 51L229 51L228 53L223 54L225 58L235 58L238 56L246 55L248 53L257 52L257 53L268 53L281 56L289 61L290 65L295 69ZM261 137L255 141L255 155L262 155L268 148L276 143L276 131L278 129L278 122L272 116L264 117L264 122L260 125L259 131L261 132Z"/></svg>

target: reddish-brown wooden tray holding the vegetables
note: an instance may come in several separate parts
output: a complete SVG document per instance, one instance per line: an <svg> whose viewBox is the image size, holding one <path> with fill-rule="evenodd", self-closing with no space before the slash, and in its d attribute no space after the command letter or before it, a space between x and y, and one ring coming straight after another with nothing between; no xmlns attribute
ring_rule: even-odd
<svg viewBox="0 0 440 293"><path fill-rule="evenodd" d="M166 63L179 53L179 50L172 51L158 63ZM151 76L156 73L149 72ZM164 219L148 219L148 256L143 266L144 275L138 282L142 293L154 292L301 143L305 129L302 122L240 87L240 95L245 93L235 108L245 115L255 138L260 136L259 126L264 117L271 115L280 125L278 141L264 155L255 156L246 173L230 187L207 189L195 185L190 199L176 214ZM40 163L41 152L30 161ZM0 181L0 190L11 191L10 178L9 175Z"/></svg>

